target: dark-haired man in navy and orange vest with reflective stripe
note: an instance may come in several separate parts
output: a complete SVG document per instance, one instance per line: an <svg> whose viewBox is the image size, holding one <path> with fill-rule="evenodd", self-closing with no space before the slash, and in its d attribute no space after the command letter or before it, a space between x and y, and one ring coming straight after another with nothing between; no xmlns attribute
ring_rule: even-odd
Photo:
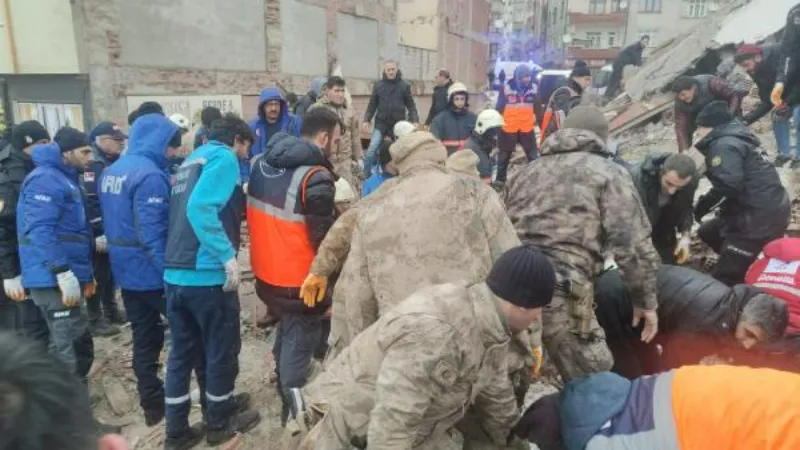
<svg viewBox="0 0 800 450"><path fill-rule="evenodd" d="M250 260L256 294L278 317L273 353L285 422L289 391L308 379L322 335L324 297L305 303L300 287L335 220L334 177L328 159L343 126L329 108L306 113L300 138L278 134L253 160L247 197Z"/></svg>

